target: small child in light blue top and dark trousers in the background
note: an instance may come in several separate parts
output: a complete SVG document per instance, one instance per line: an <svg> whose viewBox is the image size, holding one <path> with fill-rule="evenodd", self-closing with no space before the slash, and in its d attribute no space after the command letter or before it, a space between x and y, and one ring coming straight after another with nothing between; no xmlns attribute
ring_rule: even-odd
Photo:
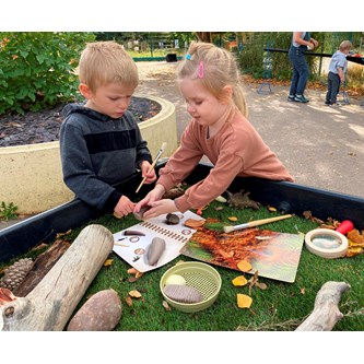
<svg viewBox="0 0 364 364"><path fill-rule="evenodd" d="M339 50L337 50L331 57L328 74L328 91L325 101L326 105L340 106L337 102L337 96L341 83L345 82L345 74L348 72L347 56L351 48L351 42L343 40L339 46Z"/></svg>

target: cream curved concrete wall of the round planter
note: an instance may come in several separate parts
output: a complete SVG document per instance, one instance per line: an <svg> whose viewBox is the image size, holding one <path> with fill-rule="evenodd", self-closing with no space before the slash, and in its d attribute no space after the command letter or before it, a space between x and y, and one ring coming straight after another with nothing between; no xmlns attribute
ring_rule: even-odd
<svg viewBox="0 0 364 364"><path fill-rule="evenodd" d="M163 98L136 95L156 101L162 110L139 124L153 158L163 142L163 157L177 148L175 106ZM13 202L21 214L39 213L73 199L62 180L59 142L0 148L0 202Z"/></svg>

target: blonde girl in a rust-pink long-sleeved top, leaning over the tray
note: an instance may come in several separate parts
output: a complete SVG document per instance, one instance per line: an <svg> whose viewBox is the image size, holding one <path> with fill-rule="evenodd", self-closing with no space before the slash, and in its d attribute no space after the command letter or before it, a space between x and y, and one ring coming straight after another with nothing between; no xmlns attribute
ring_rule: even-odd
<svg viewBox="0 0 364 364"><path fill-rule="evenodd" d="M223 193L236 176L293 181L284 165L246 118L247 106L234 56L209 43L192 43L178 70L178 84L192 119L180 146L160 169L153 190L134 212L143 218L199 209ZM171 200L162 196L183 181L201 157L213 167L203 180Z"/></svg>

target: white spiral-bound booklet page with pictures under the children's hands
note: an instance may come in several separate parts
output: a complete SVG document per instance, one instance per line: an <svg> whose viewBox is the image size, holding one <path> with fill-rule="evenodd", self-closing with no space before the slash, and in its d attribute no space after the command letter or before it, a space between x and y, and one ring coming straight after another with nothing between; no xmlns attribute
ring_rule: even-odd
<svg viewBox="0 0 364 364"><path fill-rule="evenodd" d="M113 250L140 272L157 269L168 263L180 255L180 249L196 232L193 228L186 227L185 221L188 219L204 220L191 211L176 214L179 216L179 223L176 225L168 225L166 215L160 215L141 221L139 224L114 234ZM126 231L133 231L143 235L125 235ZM150 266L146 263L145 253L154 237L163 238L166 243L166 248L157 263Z"/></svg>

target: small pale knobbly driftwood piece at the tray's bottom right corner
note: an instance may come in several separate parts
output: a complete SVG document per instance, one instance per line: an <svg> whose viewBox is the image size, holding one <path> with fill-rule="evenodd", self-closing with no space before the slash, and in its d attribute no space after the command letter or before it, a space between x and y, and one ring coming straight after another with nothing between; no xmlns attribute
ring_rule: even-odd
<svg viewBox="0 0 364 364"><path fill-rule="evenodd" d="M345 282L326 282L318 291L312 314L295 331L330 331L343 315L339 303L344 292L350 289Z"/></svg>

